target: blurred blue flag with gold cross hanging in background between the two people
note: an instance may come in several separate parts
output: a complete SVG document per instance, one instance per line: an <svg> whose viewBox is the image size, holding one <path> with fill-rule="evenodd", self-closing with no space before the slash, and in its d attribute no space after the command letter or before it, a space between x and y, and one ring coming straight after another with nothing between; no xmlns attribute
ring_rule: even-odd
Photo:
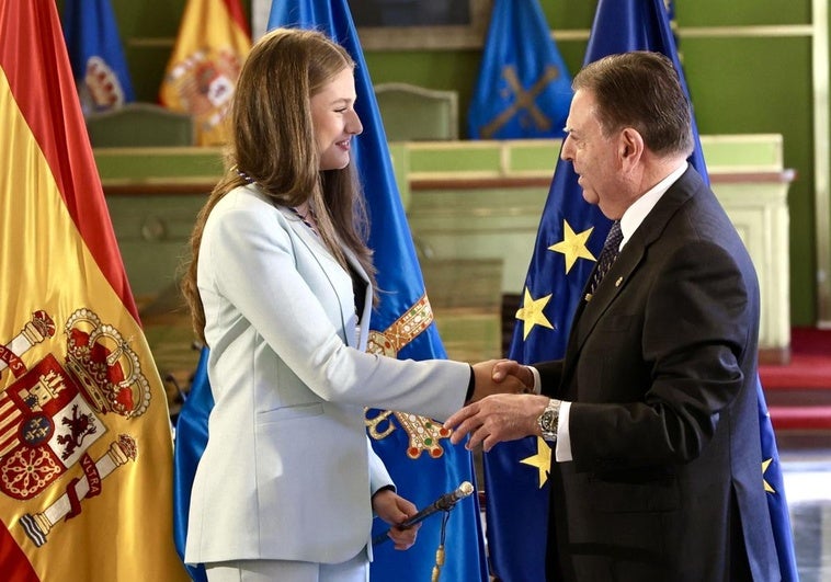
<svg viewBox="0 0 831 582"><path fill-rule="evenodd" d="M496 0L468 110L471 139L561 137L571 78L537 0Z"/></svg>

